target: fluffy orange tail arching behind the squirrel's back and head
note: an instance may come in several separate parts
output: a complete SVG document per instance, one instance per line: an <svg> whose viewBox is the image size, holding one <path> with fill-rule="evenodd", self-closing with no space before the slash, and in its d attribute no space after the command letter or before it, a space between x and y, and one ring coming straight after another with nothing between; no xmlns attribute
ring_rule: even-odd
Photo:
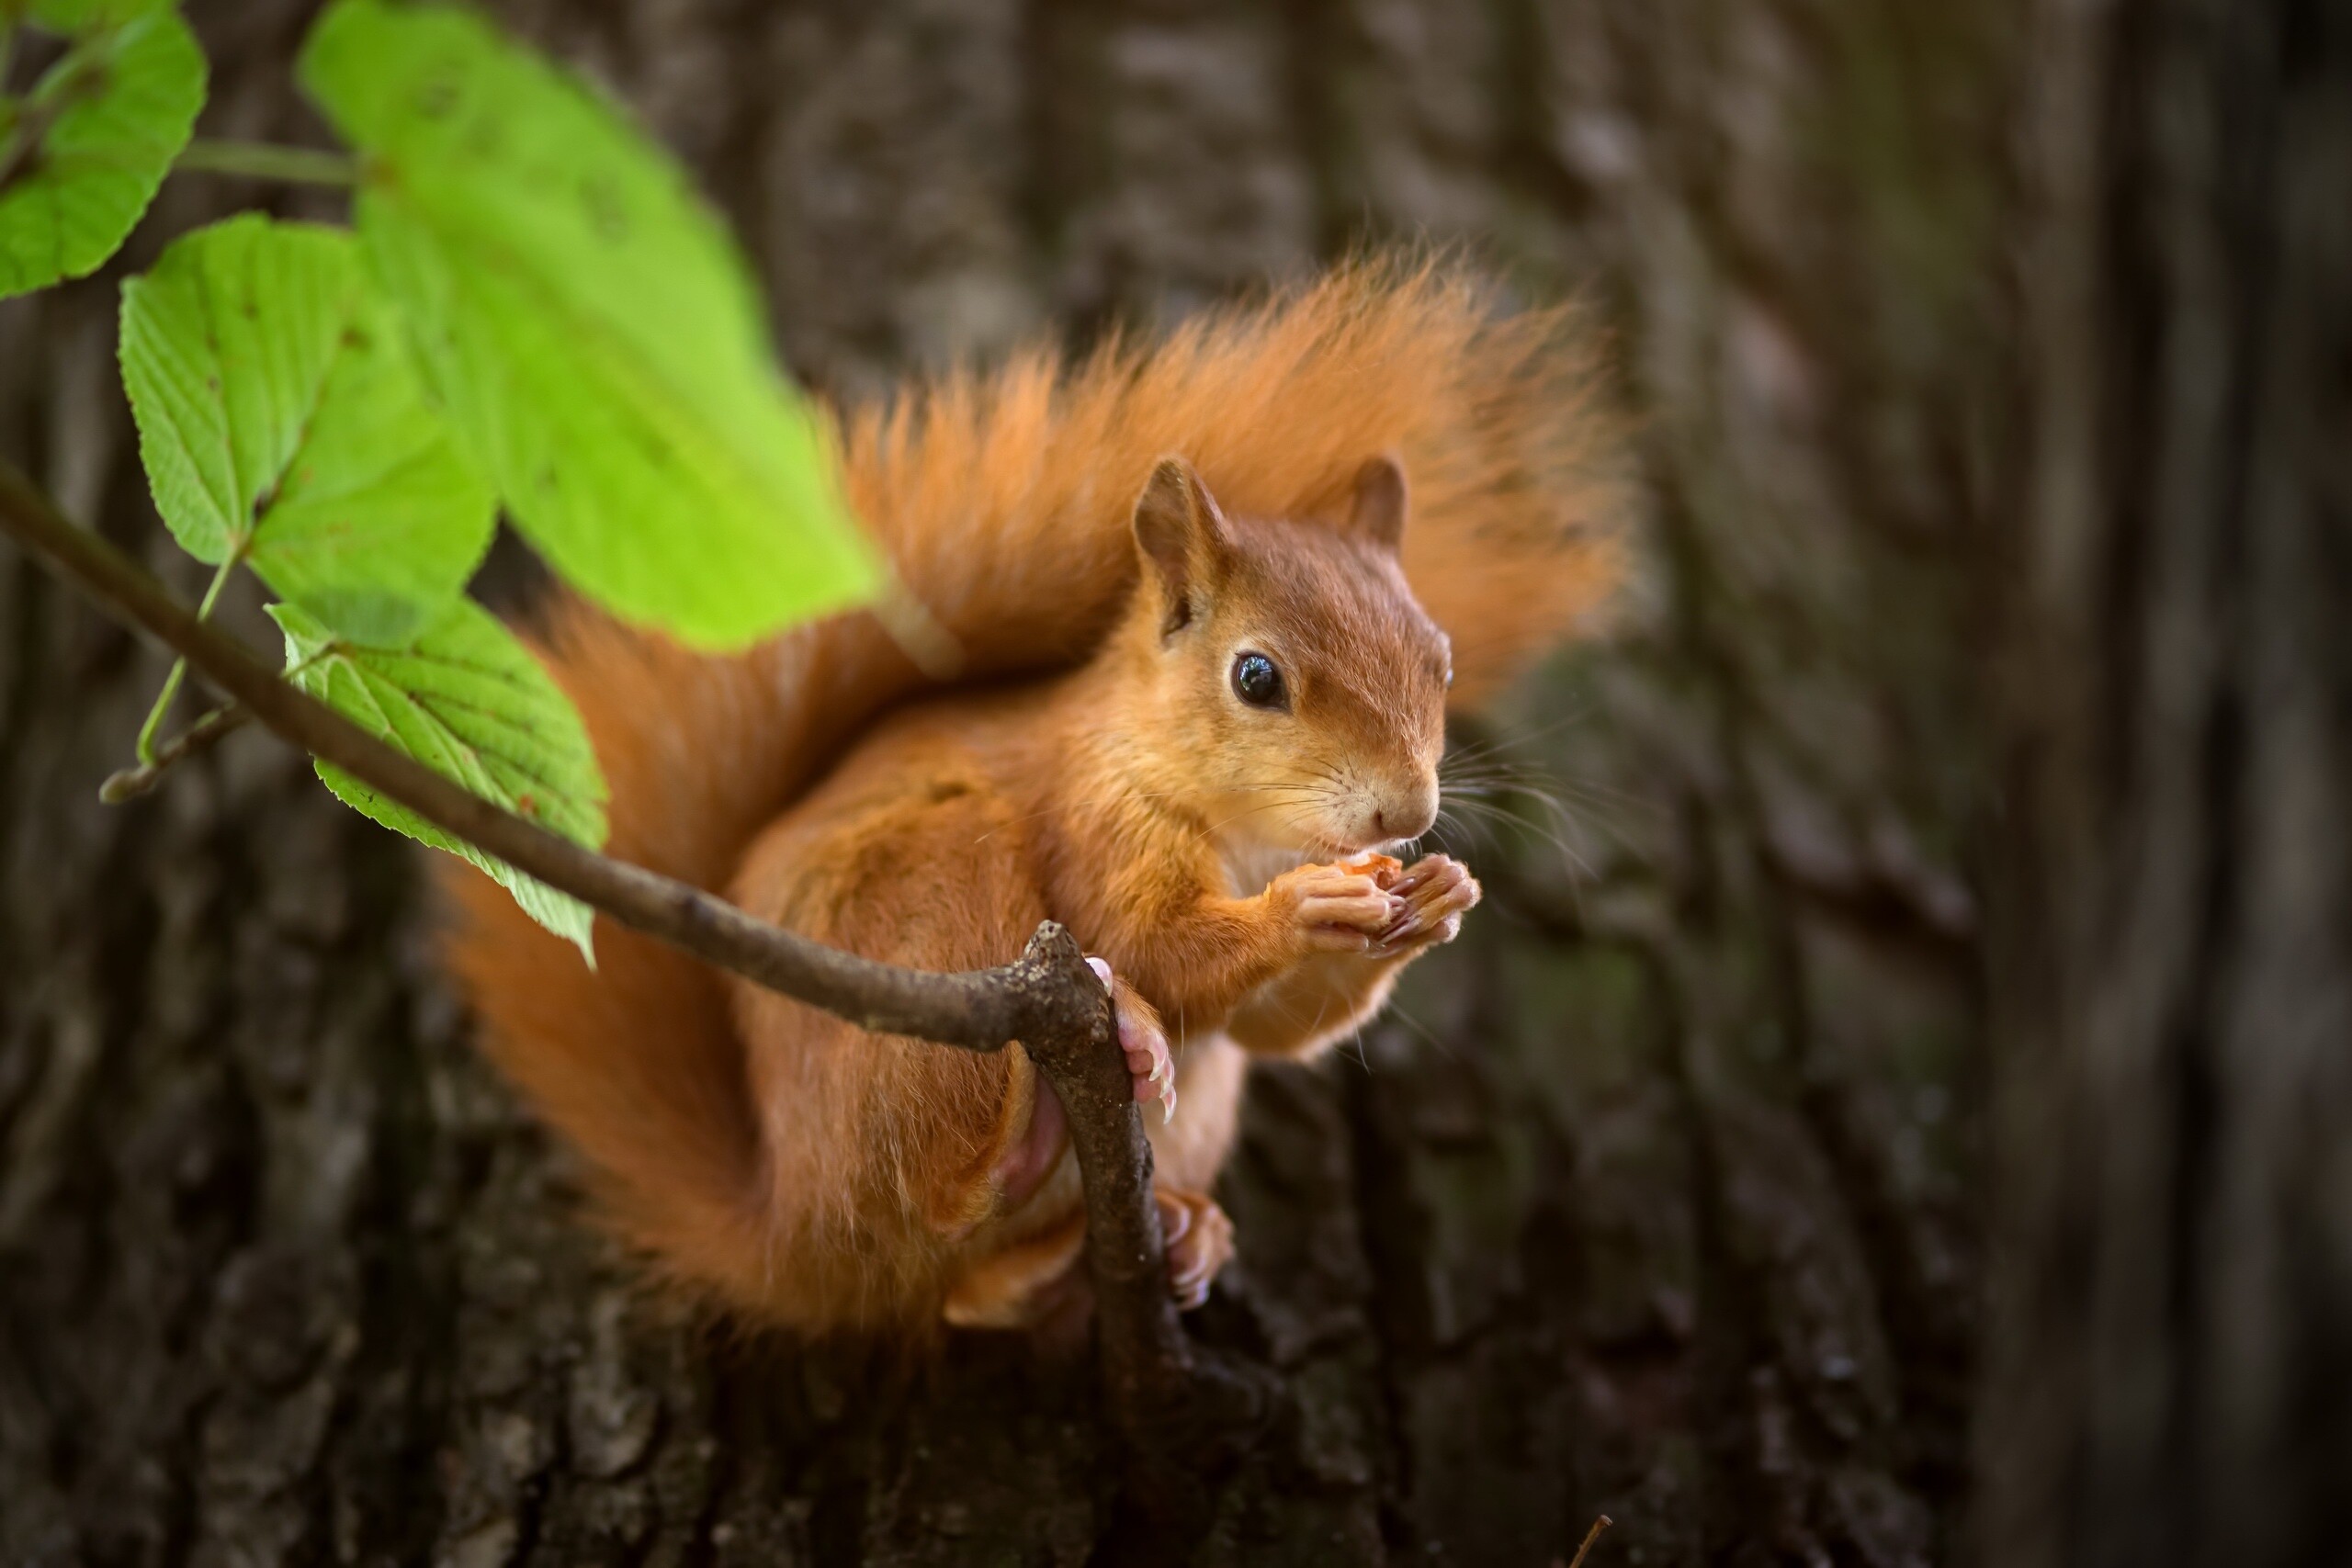
<svg viewBox="0 0 2352 1568"><path fill-rule="evenodd" d="M1444 263L1369 261L1157 346L1035 348L837 421L844 487L960 675L1084 658L1134 583L1129 510L1181 454L1240 515L1341 517L1404 463L1404 567L1475 703L1621 574L1621 430L1571 310L1503 315ZM612 785L609 851L720 889L748 839L884 705L934 682L873 616L736 658L576 602L541 637ZM506 1074L597 1166L619 1229L757 1309L760 1126L722 980L597 922L597 969L456 867L459 976ZM1011 954L1007 954L1011 957Z"/></svg>

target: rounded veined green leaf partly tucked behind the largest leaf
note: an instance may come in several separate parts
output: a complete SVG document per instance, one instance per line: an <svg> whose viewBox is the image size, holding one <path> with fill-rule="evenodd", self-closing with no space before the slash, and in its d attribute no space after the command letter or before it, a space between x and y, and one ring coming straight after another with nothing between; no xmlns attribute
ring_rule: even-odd
<svg viewBox="0 0 2352 1568"><path fill-rule="evenodd" d="M339 637L407 642L489 548L489 487L346 230L247 214L176 240L122 284L122 386L174 538Z"/></svg>

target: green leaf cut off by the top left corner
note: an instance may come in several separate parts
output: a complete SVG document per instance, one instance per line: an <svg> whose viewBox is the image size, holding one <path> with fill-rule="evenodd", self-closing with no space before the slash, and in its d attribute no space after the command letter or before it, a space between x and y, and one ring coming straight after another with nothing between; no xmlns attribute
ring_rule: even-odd
<svg viewBox="0 0 2352 1568"><path fill-rule="evenodd" d="M111 21L106 0L38 21ZM205 52L155 9L75 45L0 134L0 299L96 270L122 249L205 106Z"/></svg>

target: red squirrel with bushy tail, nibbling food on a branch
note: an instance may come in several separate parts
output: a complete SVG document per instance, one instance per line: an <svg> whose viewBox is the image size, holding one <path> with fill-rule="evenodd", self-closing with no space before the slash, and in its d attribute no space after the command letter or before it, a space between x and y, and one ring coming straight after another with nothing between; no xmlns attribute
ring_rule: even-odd
<svg viewBox="0 0 2352 1568"><path fill-rule="evenodd" d="M1449 701L1618 583L1625 484L1571 313L1439 266L950 374L840 414L851 505L953 637L873 614L699 656L572 599L539 635L612 788L609 851L877 959L978 969L1051 917L1112 987L1169 1288L1251 1056L1355 1032L1477 882L1425 835ZM1018 1046L875 1037L597 922L597 966L447 875L485 1046L619 1234L753 1324L1023 1326L1082 1241L1061 1107Z"/></svg>

